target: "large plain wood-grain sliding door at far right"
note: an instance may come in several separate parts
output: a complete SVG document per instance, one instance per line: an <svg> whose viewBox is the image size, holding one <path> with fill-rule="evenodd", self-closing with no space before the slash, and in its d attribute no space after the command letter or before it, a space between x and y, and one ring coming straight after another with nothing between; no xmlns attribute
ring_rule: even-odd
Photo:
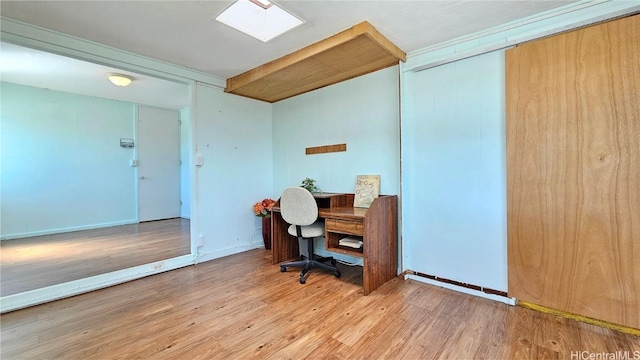
<svg viewBox="0 0 640 360"><path fill-rule="evenodd" d="M640 15L506 72L509 295L640 328Z"/></svg>

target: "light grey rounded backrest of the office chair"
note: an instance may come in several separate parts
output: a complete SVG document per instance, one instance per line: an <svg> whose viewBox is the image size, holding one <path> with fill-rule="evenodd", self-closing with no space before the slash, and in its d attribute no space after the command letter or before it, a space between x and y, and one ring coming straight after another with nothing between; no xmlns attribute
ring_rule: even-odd
<svg viewBox="0 0 640 360"><path fill-rule="evenodd" d="M311 225L318 219L318 204L307 189L290 187L280 197L280 214L289 224Z"/></svg>

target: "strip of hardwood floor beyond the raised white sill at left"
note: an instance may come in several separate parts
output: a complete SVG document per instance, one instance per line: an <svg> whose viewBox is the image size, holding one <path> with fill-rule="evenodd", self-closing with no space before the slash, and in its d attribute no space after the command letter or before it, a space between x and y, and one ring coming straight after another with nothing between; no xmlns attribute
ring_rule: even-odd
<svg viewBox="0 0 640 360"><path fill-rule="evenodd" d="M0 295L189 254L189 224L178 218L2 241Z"/></svg>

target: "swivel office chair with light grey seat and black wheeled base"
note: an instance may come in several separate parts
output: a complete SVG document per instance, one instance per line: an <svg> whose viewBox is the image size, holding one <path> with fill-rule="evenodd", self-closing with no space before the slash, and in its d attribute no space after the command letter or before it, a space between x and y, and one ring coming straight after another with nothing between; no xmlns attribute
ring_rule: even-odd
<svg viewBox="0 0 640 360"><path fill-rule="evenodd" d="M313 195L301 187L285 189L280 197L280 213L284 221L290 224L289 234L297 236L298 240L307 240L308 246L306 259L280 264L280 271L286 272L289 267L301 267L300 284L306 282L307 273L315 268L333 271L333 275L340 277L340 270L333 257L316 257L313 253L313 239L324 236L324 222L317 221L318 204ZM325 264L327 261L331 261L331 265Z"/></svg>

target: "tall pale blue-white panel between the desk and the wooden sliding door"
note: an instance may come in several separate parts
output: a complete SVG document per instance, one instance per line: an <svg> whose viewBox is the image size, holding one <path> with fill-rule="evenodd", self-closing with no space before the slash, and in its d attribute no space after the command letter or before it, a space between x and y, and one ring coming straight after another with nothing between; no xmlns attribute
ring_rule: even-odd
<svg viewBox="0 0 640 360"><path fill-rule="evenodd" d="M404 268L507 290L504 51L403 74Z"/></svg>

